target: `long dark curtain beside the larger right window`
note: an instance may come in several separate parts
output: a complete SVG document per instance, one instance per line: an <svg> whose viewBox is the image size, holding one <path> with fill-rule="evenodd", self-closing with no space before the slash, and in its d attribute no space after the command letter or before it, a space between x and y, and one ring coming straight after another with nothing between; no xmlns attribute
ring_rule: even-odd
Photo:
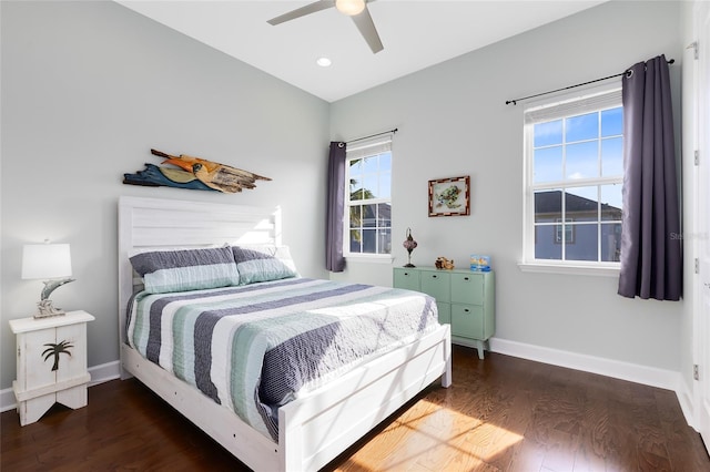
<svg viewBox="0 0 710 472"><path fill-rule="evenodd" d="M635 64L622 83L625 175L618 293L679 300L680 205L666 57Z"/></svg>

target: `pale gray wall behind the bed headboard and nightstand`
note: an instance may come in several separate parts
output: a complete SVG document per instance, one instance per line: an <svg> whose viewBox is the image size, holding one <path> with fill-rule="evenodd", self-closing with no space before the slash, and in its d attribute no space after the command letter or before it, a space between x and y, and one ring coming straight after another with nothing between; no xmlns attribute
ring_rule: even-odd
<svg viewBox="0 0 710 472"><path fill-rule="evenodd" d="M118 355L120 195L281 205L304 275L323 271L328 104L113 2L1 2L0 389L14 379L8 320L32 315L26 243L70 243L77 281L52 298L85 309L89 366ZM155 147L272 177L224 195L123 185ZM298 195L297 199L292 196ZM304 228L308 228L306 232Z"/></svg>

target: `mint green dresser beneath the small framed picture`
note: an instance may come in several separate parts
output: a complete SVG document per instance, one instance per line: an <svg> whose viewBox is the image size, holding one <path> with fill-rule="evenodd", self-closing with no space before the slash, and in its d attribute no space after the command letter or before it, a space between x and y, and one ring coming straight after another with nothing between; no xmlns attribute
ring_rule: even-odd
<svg viewBox="0 0 710 472"><path fill-rule="evenodd" d="M439 322L452 325L452 342L484 348L496 330L495 275L435 267L395 267L394 287L423 291L436 299Z"/></svg>

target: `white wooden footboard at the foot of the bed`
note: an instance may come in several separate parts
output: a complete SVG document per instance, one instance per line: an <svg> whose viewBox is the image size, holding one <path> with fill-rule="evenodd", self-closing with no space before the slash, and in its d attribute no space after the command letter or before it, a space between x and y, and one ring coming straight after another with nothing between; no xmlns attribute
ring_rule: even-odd
<svg viewBox="0 0 710 472"><path fill-rule="evenodd" d="M452 383L450 332L444 325L278 410L285 470L314 471L437 378Z"/></svg>

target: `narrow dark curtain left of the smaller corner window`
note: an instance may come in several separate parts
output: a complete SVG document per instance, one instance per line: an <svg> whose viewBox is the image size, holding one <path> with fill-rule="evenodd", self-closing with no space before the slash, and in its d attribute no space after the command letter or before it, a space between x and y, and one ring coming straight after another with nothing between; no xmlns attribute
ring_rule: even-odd
<svg viewBox="0 0 710 472"><path fill-rule="evenodd" d="M332 142L328 155L328 199L325 235L325 268L345 269L343 257L343 213L345 206L345 143Z"/></svg>

